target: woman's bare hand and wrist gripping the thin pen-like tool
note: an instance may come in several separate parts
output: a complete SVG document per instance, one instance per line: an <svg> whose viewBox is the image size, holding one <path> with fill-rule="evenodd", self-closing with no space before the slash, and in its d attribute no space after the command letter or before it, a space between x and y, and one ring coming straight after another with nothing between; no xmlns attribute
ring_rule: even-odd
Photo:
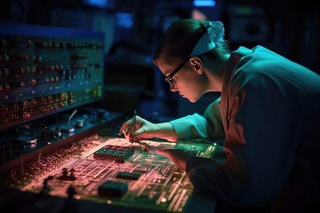
<svg viewBox="0 0 320 213"><path fill-rule="evenodd" d="M135 116L135 132L133 132L133 118L124 122L119 130L128 141L161 138L169 141L176 141L177 135L169 122L154 124L139 115Z"/></svg>

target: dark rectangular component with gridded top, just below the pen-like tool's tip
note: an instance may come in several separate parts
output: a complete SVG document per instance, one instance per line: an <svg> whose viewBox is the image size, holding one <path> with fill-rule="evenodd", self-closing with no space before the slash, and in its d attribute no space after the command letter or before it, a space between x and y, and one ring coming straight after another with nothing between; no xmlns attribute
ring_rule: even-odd
<svg viewBox="0 0 320 213"><path fill-rule="evenodd" d="M94 158L102 160L116 160L123 163L134 153L134 148L107 145L94 153Z"/></svg>

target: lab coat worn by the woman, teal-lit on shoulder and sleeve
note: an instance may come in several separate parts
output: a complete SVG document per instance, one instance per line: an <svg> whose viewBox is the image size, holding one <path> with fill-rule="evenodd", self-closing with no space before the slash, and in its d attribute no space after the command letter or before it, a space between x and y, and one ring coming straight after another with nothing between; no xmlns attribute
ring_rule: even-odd
<svg viewBox="0 0 320 213"><path fill-rule="evenodd" d="M320 76L308 68L260 45L240 47L226 64L221 99L171 124L178 140L225 134L222 163L188 158L195 192L240 207L270 203L273 212L306 212L318 198Z"/></svg>

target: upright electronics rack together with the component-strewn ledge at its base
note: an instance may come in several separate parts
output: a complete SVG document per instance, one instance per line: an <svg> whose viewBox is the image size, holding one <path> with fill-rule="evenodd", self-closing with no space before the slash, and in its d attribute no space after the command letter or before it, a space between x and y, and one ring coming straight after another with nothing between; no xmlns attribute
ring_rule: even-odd
<svg viewBox="0 0 320 213"><path fill-rule="evenodd" d="M103 32L6 22L0 29L0 173L119 117L96 104Z"/></svg>

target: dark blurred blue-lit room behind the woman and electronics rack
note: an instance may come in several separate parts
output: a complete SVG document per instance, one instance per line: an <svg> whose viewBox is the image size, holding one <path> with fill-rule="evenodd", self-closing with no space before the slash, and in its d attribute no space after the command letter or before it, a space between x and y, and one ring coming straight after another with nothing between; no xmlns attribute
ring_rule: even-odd
<svg viewBox="0 0 320 213"><path fill-rule="evenodd" d="M198 102L173 93L152 64L153 51L178 18L221 20L235 50L260 44L319 73L319 7L315 1L215 1L196 7L192 0L11 0L1 1L0 19L105 33L105 98L110 111L159 121L202 113L219 93ZM208 2L208 1L207 1ZM95 4L97 3L97 4ZM6 29L0 29L5 32ZM23 34L23 32L21 32ZM160 120L161 121L161 120Z"/></svg>

